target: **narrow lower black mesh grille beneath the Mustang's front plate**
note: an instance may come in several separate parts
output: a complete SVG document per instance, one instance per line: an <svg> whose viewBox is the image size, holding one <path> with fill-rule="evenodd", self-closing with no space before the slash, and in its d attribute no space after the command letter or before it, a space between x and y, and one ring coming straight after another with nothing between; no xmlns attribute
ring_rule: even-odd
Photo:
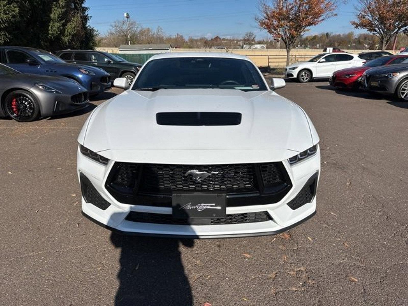
<svg viewBox="0 0 408 306"><path fill-rule="evenodd" d="M172 215L157 213L140 213L132 211L127 215L126 220L132 222L173 224L173 225L221 225L221 224L240 224L252 222L265 222L272 220L266 211L256 213L239 213L226 215L225 218L208 219L175 219Z"/></svg>

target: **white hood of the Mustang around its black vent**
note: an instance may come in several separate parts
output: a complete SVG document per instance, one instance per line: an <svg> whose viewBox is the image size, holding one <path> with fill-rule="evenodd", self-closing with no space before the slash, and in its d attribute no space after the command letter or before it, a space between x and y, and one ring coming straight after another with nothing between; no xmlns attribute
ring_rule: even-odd
<svg viewBox="0 0 408 306"><path fill-rule="evenodd" d="M241 124L230 126L169 126L156 121L156 113L160 112L197 111L238 112L242 120ZM85 135L80 134L78 141L95 152L109 149L301 152L313 145L311 129L314 130L297 104L273 91L234 89L128 90L98 106L84 126Z"/></svg>

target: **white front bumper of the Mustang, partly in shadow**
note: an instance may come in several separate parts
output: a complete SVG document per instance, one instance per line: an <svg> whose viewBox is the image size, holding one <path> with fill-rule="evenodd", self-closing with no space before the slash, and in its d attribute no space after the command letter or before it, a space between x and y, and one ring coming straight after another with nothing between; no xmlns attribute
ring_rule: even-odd
<svg viewBox="0 0 408 306"><path fill-rule="evenodd" d="M316 155L293 166L290 166L288 162L284 160L283 164L292 182L292 187L279 202L260 205L248 202L248 205L245 206L227 206L227 215L266 212L270 217L269 220L263 222L238 224L176 225L134 222L128 217L128 215L133 212L171 216L172 208L123 204L115 200L105 188L105 182L113 164L114 162L110 161L108 165L104 166L85 157L78 150L78 178L84 175L93 185L100 197L110 204L108 207L101 209L92 203L86 202L84 196L82 196L83 214L95 223L120 233L190 238L271 235L286 231L304 222L312 217L316 211L316 196L313 196L310 202L296 209L290 208L288 203L295 199L305 185L310 184L310 178L315 178L317 186L320 172L319 151Z"/></svg>

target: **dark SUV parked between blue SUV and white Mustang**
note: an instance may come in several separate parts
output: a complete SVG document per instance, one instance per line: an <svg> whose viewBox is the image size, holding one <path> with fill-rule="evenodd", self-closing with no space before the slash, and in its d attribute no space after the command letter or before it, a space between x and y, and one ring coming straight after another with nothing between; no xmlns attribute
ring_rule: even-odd
<svg viewBox="0 0 408 306"><path fill-rule="evenodd" d="M141 64L127 62L120 56L94 50L63 50L56 53L62 60L69 63L84 64L102 68L115 78L126 78L129 86L135 80Z"/></svg>

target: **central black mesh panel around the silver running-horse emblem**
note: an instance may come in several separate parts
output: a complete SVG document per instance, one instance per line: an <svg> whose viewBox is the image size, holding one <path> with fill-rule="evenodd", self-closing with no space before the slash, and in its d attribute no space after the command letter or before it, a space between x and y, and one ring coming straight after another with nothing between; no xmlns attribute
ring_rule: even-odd
<svg viewBox="0 0 408 306"><path fill-rule="evenodd" d="M201 180L194 179L194 172L210 173ZM144 164L140 180L140 193L173 191L223 191L243 193L257 191L253 164L227 165L169 165Z"/></svg>

